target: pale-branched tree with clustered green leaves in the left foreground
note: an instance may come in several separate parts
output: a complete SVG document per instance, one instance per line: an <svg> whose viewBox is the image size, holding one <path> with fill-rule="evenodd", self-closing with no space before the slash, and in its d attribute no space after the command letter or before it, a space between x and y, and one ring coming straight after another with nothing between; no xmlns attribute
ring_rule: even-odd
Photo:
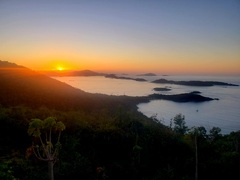
<svg viewBox="0 0 240 180"><path fill-rule="evenodd" d="M62 122L56 122L55 117L48 117L44 120L32 119L29 123L28 134L38 139L38 144L34 144L28 149L34 155L42 160L48 162L48 173L50 180L54 179L53 166L58 159L61 132L65 129ZM53 133L56 133L55 144L53 144ZM45 141L44 141L45 139Z"/></svg>

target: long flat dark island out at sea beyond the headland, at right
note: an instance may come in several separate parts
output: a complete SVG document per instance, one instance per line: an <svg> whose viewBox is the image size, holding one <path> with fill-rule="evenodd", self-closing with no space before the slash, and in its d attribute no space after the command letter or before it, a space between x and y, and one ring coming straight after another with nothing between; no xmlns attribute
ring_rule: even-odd
<svg viewBox="0 0 240 180"><path fill-rule="evenodd" d="M184 85L184 86L239 86L236 84L230 84L225 82L218 82L218 81L172 81L167 79L158 79L152 81L152 83L158 84L177 84L177 85Z"/></svg>

